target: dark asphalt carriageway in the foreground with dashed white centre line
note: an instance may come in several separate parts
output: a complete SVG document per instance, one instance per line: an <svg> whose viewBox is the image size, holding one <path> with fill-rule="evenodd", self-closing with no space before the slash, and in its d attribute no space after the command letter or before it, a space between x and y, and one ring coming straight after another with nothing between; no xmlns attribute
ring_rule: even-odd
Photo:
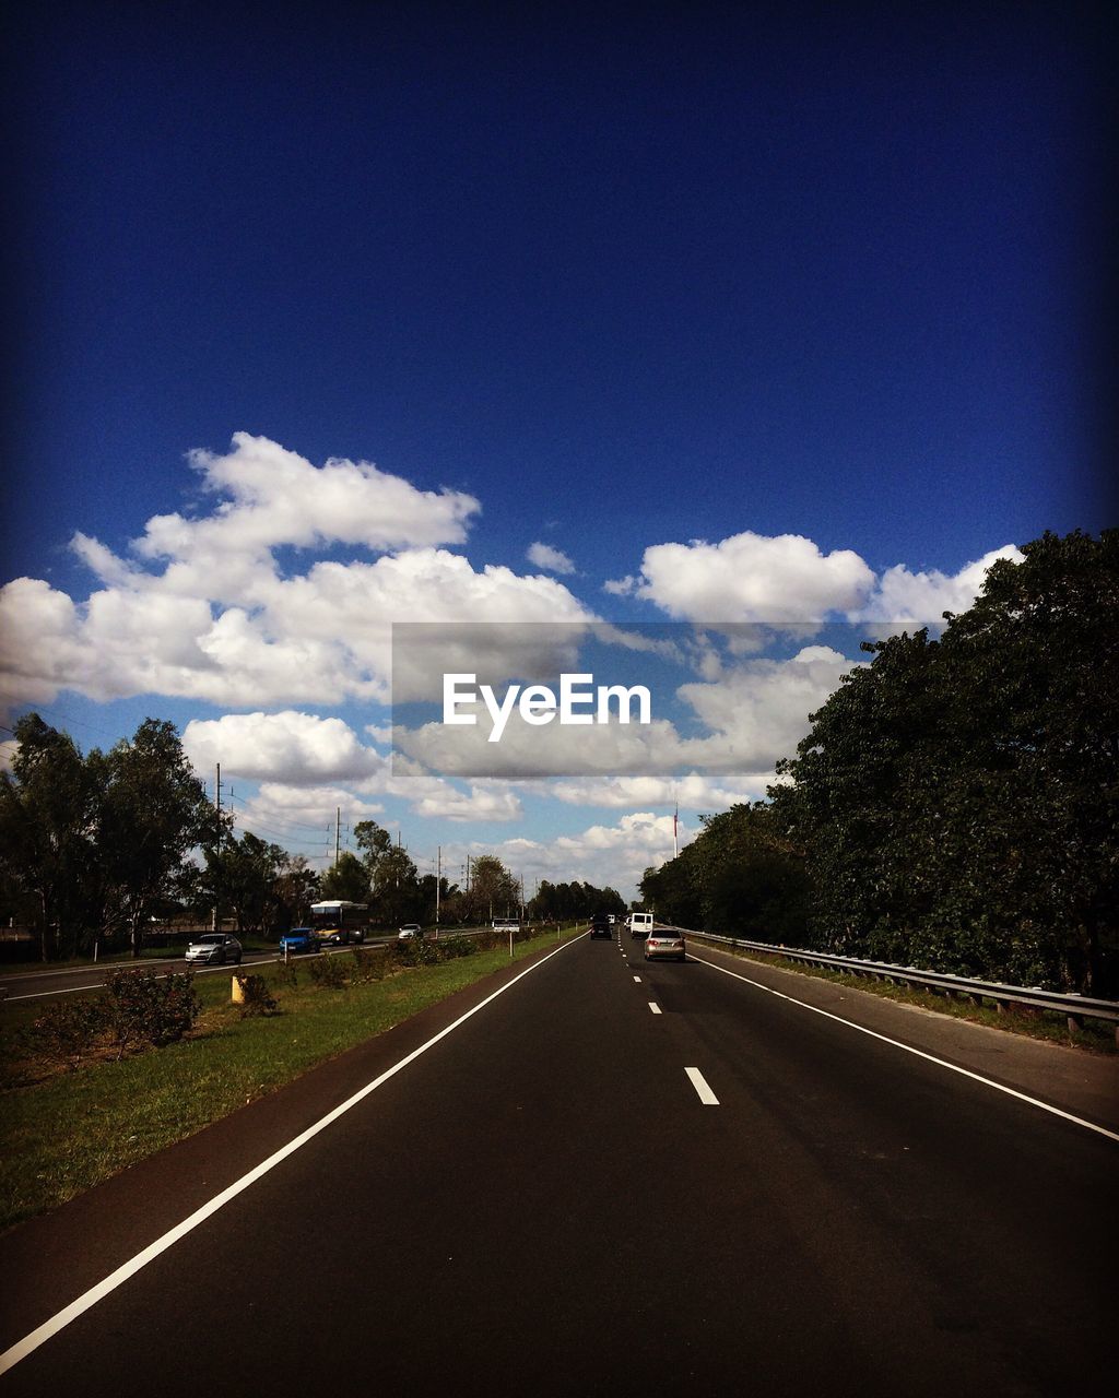
<svg viewBox="0 0 1119 1398"><path fill-rule="evenodd" d="M1119 1139L701 955L646 966L627 937L580 938L429 1047L494 987L0 1239L7 1346L424 1050L0 1383L1002 1398L1099 1381Z"/></svg>

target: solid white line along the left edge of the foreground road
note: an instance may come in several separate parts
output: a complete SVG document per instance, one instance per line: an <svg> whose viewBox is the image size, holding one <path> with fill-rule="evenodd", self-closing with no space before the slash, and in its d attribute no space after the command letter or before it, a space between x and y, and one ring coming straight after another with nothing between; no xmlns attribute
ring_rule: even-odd
<svg viewBox="0 0 1119 1398"><path fill-rule="evenodd" d="M506 981L499 990L495 990L492 995L487 995L485 1000L474 1005L473 1009L467 1009L464 1015L460 1015L453 1025L448 1025L446 1029L441 1029L439 1033L428 1039L427 1043L420 1044L418 1048L413 1048L410 1054L406 1054L399 1062L394 1062L392 1068L386 1068L379 1078L375 1078L372 1082L368 1082L364 1088L355 1092L352 1097L343 1102L340 1106L334 1107L334 1110L329 1111L325 1117L320 1117L313 1125L308 1127L306 1131L302 1131L292 1141L288 1141L287 1145L281 1146L278 1151L270 1155L267 1160L262 1160L260 1165L255 1166L255 1169L249 1170L248 1174L243 1174L239 1180L234 1181L234 1184L222 1190L221 1194L215 1194L208 1204L203 1204L201 1208L196 1209L189 1218L183 1219L182 1223L176 1223L175 1227L164 1233L162 1237L158 1237L143 1251L137 1253L136 1257L133 1257L130 1261L117 1267L117 1269L112 1272L109 1276L106 1276L104 1281L98 1282L95 1286L91 1286L88 1292L84 1292L81 1296L78 1296L76 1302L71 1302L56 1316L52 1316L50 1320L39 1325L38 1329L31 1331L29 1335L25 1335L22 1339L17 1341L10 1349L4 1350L4 1353L0 1355L0 1374L7 1373L7 1370L18 1364L21 1359L27 1359L29 1353L36 1350L39 1345L42 1345L45 1341L50 1339L52 1335L57 1335L60 1329L64 1329L71 1321L77 1320L78 1316L83 1316L87 1310L90 1310L91 1306L95 1306L99 1300L104 1300L111 1292L115 1292L117 1286L126 1282L130 1276L134 1276L138 1271L147 1267L148 1262L155 1261L155 1258L159 1257L161 1253L165 1253L169 1247L173 1247L175 1243L186 1237L187 1233L192 1233L200 1223L204 1223L206 1219L208 1219L211 1215L217 1213L218 1209L229 1204L231 1199L235 1199L239 1194L243 1194L243 1191L248 1190L250 1184L256 1184L259 1179L266 1176L283 1160L287 1160L290 1155L294 1155L301 1146L306 1145L308 1141L316 1137L320 1131L325 1131L329 1125L333 1125L333 1123L337 1121L338 1117L345 1116L345 1113L350 1111L351 1107L355 1107L359 1102L364 1102L371 1092L376 1092L376 1089L380 1088L383 1083L386 1083L389 1078L394 1078L397 1072L400 1072L403 1068L407 1068L408 1064L414 1062L421 1054L425 1054L428 1048L434 1048L441 1039L446 1039L448 1035L452 1035L456 1029L464 1025L467 1019L471 1019L474 1015L477 1015L480 1009L485 1009L485 1007L492 1004L492 1001L495 1001L498 995L504 995L505 991L512 990L519 980L523 980L526 976L530 976L534 970L539 970L546 962L550 962L553 956L558 956L560 952L566 951L568 946L578 945L578 942L579 942L578 937L572 938L569 942L564 942L564 945L557 946L554 952L548 952L547 956L541 956L539 962L534 962L532 966L527 966L523 972L520 972L519 976L513 976L513 979Z"/></svg>

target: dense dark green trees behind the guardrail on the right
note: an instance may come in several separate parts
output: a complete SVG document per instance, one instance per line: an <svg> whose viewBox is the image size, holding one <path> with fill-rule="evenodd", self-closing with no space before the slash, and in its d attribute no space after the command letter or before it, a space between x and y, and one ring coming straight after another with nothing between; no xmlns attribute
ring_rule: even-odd
<svg viewBox="0 0 1119 1398"><path fill-rule="evenodd" d="M764 802L642 898L685 927L1119 994L1119 531L1046 533L866 642Z"/></svg>

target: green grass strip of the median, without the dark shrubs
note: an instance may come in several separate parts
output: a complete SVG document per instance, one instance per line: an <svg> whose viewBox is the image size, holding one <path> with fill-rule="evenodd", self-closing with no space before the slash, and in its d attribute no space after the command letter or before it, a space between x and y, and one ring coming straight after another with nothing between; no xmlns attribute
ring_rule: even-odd
<svg viewBox="0 0 1119 1398"><path fill-rule="evenodd" d="M513 959L555 942L555 934L522 942ZM21 1058L21 1030L42 1007L13 1007L0 1033L17 1083L3 1093L0 1229L63 1204L508 965L502 946L343 990L313 986L302 967L295 988L278 986L273 967L266 979L280 1012L246 1019L229 1004L225 977L210 977L196 981L203 1015L189 1039L119 1062L94 1058L74 1071L49 1071L25 1051Z"/></svg>

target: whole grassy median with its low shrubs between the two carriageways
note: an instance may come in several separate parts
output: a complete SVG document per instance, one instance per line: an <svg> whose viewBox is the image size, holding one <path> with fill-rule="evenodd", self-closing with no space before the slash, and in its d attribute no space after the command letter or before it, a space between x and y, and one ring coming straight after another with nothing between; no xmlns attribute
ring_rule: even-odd
<svg viewBox="0 0 1119 1398"><path fill-rule="evenodd" d="M513 959L557 939L555 931L525 932ZM63 1204L509 965L504 934L488 946L464 938L422 945L442 952L355 948L274 963L246 974L256 987L243 1005L231 1002L225 976L175 977L193 981L186 990L197 1008L189 1026L178 1022L176 1037L155 1029L161 1047L130 1033L122 1050L112 1018L99 1018L111 1016L104 1007L112 995L70 1000L62 1032L35 1028L49 1018L42 1007L7 1007L0 1029L0 1227ZM143 998L137 987L145 979L136 973L124 993Z"/></svg>

